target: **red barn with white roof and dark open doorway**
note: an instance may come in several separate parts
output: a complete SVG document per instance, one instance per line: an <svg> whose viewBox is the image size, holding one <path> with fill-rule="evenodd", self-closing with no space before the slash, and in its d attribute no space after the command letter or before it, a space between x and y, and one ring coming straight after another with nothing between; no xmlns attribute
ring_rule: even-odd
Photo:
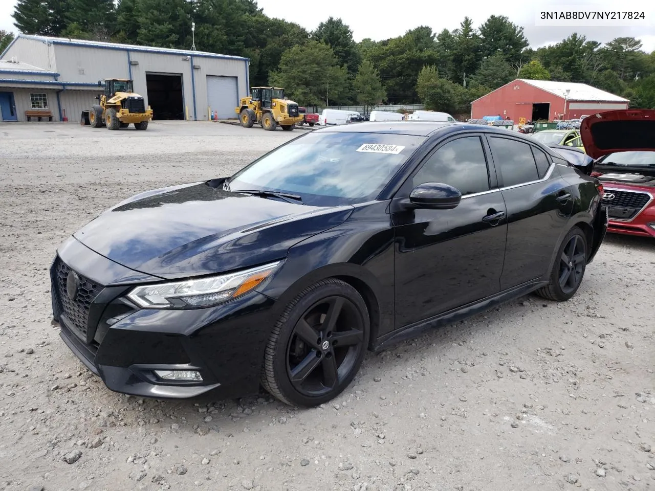
<svg viewBox="0 0 655 491"><path fill-rule="evenodd" d="M502 116L519 122L574 119L597 111L627 109L629 100L587 84L516 79L471 103L471 118Z"/></svg>

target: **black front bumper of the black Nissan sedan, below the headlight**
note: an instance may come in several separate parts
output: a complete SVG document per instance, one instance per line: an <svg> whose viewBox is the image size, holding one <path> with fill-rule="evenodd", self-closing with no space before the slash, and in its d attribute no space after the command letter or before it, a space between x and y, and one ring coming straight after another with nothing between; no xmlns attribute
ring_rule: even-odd
<svg viewBox="0 0 655 491"><path fill-rule="evenodd" d="M62 278L65 274L67 279L71 271L81 285L72 300ZM113 263L73 238L58 250L50 279L52 312L60 323L60 336L110 390L160 399L195 397L208 391L228 398L259 390L264 348L273 324L269 297L253 292L211 308L140 309L125 295L144 282L144 275ZM153 280L157 278L147 281ZM202 382L162 380L154 373L175 369L198 371Z"/></svg>

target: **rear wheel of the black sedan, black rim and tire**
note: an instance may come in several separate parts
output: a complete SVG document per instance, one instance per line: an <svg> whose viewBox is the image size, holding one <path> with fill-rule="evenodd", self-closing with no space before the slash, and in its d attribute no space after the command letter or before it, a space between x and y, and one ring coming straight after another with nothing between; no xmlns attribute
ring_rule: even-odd
<svg viewBox="0 0 655 491"><path fill-rule="evenodd" d="M564 302L576 294L582 284L587 266L588 244L584 232L573 227L557 249L557 257L550 272L550 283L536 291L540 297Z"/></svg>

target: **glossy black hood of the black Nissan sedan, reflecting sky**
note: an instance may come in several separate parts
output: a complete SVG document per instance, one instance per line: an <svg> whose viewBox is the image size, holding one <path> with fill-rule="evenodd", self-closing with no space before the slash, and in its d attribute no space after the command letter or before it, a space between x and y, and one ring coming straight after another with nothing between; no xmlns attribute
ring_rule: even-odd
<svg viewBox="0 0 655 491"><path fill-rule="evenodd" d="M202 182L137 194L73 236L132 270L176 279L276 261L351 212L351 206L286 203Z"/></svg>

